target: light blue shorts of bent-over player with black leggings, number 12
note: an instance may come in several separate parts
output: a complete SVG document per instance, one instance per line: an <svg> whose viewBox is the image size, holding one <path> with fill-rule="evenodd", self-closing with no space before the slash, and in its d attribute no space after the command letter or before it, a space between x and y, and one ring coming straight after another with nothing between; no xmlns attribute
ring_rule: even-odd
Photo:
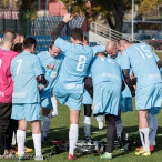
<svg viewBox="0 0 162 162"><path fill-rule="evenodd" d="M121 89L111 82L99 83L93 89L93 114L118 115Z"/></svg>

